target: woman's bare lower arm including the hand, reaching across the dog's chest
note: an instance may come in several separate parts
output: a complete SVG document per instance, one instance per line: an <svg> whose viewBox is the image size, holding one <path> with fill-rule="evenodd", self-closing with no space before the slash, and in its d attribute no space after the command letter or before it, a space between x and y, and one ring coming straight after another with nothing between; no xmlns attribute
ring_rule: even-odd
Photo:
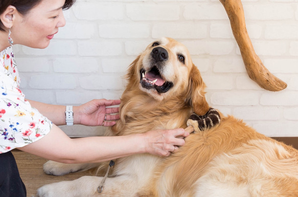
<svg viewBox="0 0 298 197"><path fill-rule="evenodd" d="M168 156L174 145L184 145L184 129L156 130L145 134L113 137L69 138L53 125L43 138L18 148L21 151L62 163L96 163L138 153Z"/></svg>

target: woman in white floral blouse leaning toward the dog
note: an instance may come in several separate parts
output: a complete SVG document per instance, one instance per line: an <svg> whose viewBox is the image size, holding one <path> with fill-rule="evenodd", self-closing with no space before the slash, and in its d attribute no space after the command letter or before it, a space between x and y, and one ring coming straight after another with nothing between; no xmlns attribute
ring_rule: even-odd
<svg viewBox="0 0 298 197"><path fill-rule="evenodd" d="M71 139L56 125L65 125L65 106L25 99L10 45L45 48L65 25L62 13L75 0L0 1L0 196L26 196L11 150L16 148L64 163L101 162L137 153L168 156L184 145L184 129L145 134ZM119 100L93 100L67 110L70 124L112 126ZM73 120L72 116L73 115ZM68 118L68 117L67 117ZM107 120L107 121L106 121ZM112 149L110 147L113 147ZM84 157L82 157L82 155Z"/></svg>

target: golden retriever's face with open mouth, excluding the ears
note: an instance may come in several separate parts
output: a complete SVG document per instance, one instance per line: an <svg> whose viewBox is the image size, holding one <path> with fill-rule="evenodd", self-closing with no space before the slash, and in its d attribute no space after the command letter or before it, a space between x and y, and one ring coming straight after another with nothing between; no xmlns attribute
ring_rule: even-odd
<svg viewBox="0 0 298 197"><path fill-rule="evenodd" d="M192 61L187 48L171 38L149 44L140 57L140 89L156 100L186 88ZM178 92L177 92L178 91Z"/></svg>

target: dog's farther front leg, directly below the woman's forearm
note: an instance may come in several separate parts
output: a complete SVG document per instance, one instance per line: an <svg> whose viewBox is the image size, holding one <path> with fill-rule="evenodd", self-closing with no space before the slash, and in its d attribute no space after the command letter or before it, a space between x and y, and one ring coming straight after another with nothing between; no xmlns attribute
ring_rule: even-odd
<svg viewBox="0 0 298 197"><path fill-rule="evenodd" d="M47 161L43 164L43 171L48 175L62 176L76 171L83 171L98 167L99 163L79 163L79 164L66 164L55 161Z"/></svg>

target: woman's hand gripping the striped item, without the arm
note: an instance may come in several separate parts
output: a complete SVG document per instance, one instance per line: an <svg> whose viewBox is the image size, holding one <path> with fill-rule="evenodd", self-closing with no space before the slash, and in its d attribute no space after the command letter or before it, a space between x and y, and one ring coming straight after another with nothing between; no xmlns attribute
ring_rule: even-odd
<svg viewBox="0 0 298 197"><path fill-rule="evenodd" d="M184 129L172 129L172 130L154 130L144 134L145 148L147 153L158 156L169 156L172 152L178 150L178 146L184 145L185 140L176 138L177 136L187 137L189 133Z"/></svg>

